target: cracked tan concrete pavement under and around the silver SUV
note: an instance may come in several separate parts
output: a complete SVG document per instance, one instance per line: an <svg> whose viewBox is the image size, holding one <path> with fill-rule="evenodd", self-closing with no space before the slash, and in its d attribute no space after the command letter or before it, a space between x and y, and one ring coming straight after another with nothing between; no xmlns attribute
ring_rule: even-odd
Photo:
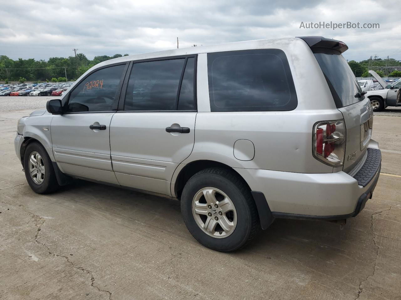
<svg viewBox="0 0 401 300"><path fill-rule="evenodd" d="M0 111L0 299L401 299L400 177L382 175L343 230L276 220L219 253L173 200L84 181L32 192L13 146L26 114ZM382 172L400 174L401 118L374 122Z"/></svg>

